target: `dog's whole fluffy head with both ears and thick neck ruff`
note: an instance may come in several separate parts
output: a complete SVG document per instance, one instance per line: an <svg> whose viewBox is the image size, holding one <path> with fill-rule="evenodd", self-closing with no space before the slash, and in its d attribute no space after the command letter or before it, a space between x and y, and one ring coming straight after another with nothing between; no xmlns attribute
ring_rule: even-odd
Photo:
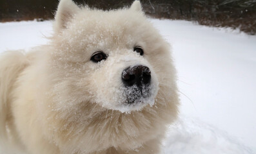
<svg viewBox="0 0 256 154"><path fill-rule="evenodd" d="M55 119L75 122L77 131L86 133L88 124L115 127L124 133L109 144L136 137L137 142L127 145L134 147L144 139L138 132L153 131L158 123L176 116L169 46L146 19L139 1L130 8L104 12L61 0L51 44L49 93L54 102L50 107L58 113ZM110 125L110 120L127 121L127 126ZM128 133L132 127L137 133Z"/></svg>

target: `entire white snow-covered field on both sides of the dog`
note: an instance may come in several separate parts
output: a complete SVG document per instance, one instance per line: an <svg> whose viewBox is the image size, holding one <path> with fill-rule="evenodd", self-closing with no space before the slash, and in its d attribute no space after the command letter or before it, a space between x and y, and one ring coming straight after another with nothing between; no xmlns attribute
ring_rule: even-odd
<svg viewBox="0 0 256 154"><path fill-rule="evenodd" d="M181 114L163 153L256 153L256 36L152 20L172 44ZM0 52L46 44L52 22L0 23Z"/></svg>

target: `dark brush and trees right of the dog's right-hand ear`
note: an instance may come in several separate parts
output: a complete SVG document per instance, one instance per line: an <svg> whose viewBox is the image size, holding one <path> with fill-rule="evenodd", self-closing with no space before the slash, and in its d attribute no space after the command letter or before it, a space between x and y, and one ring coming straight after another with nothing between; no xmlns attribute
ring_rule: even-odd
<svg viewBox="0 0 256 154"><path fill-rule="evenodd" d="M256 0L151 1L145 8L150 7L146 12L155 17L186 19L204 25L239 28L251 35L256 33Z"/></svg>

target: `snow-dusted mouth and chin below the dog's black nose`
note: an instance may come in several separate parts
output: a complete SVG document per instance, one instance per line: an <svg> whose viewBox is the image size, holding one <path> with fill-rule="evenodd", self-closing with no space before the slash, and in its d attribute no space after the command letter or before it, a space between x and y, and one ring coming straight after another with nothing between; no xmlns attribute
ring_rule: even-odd
<svg viewBox="0 0 256 154"><path fill-rule="evenodd" d="M155 98L159 90L156 83L152 82L148 85L132 85L110 89L112 97L106 98L102 95L95 95L98 96L95 102L107 110L117 110L126 114L134 111L139 112L146 106L152 107L155 104Z"/></svg>

